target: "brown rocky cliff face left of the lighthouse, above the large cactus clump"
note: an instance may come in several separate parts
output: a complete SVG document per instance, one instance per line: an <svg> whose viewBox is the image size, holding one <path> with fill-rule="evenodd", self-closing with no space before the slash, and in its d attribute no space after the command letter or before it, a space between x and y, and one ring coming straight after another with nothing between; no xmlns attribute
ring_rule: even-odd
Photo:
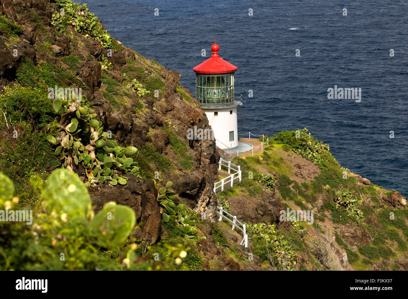
<svg viewBox="0 0 408 299"><path fill-rule="evenodd" d="M6 29L0 32L0 84L12 86L16 71L27 60L36 66L45 62L71 73L78 81L67 79L64 86L82 88L104 130L111 131L118 144L139 149L139 162L148 178L172 181L182 202L214 219L216 198L212 188L219 155L214 141L186 138L188 128L209 126L198 102L180 86L180 73L167 71L116 41L114 49L107 49L72 27L56 32L50 25L52 10L58 11L55 3L45 0L0 1L3 18L22 27L18 35ZM103 57L109 61L109 68L104 71L98 62ZM124 86L124 78L136 78L150 93L139 97ZM5 110L3 107L7 113ZM11 127L9 130L14 131ZM48 173L55 167L47 163L38 166L47 168ZM78 167L75 172L84 178L83 168ZM155 202L157 190L152 184L149 179L131 179L123 188L113 188L105 182L90 191L98 206L117 199L133 207L138 221L146 223L141 235L154 242L161 233L161 218Z"/></svg>

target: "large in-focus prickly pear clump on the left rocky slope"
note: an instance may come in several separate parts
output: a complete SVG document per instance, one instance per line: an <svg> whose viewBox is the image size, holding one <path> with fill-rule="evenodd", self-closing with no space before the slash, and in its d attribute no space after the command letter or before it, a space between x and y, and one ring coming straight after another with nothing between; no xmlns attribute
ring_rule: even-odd
<svg viewBox="0 0 408 299"><path fill-rule="evenodd" d="M72 98L75 97L54 100L53 109L60 115L58 126L62 130L58 136L47 137L57 146L55 154L62 166L73 171L73 164L81 164L86 169L86 185L105 181L112 186L126 185L128 178L121 173L146 178L146 173L130 157L137 154L137 148L119 146L114 134L102 131L102 122L94 119L95 111L85 105L84 95L75 101ZM115 173L115 169L120 173Z"/></svg>

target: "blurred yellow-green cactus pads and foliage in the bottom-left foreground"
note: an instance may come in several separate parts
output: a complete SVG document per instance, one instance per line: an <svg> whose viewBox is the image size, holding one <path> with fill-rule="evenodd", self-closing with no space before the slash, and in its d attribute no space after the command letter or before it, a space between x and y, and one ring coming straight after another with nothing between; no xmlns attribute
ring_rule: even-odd
<svg viewBox="0 0 408 299"><path fill-rule="evenodd" d="M13 183L0 173L1 210L18 209L13 193ZM66 169L52 173L42 187L41 198L45 213L32 213L24 222L0 223L2 270L122 268L120 262L100 257L98 251L101 247L115 249L126 241L135 225L131 208L109 202L93 216L86 187ZM33 225L27 225L31 221Z"/></svg>

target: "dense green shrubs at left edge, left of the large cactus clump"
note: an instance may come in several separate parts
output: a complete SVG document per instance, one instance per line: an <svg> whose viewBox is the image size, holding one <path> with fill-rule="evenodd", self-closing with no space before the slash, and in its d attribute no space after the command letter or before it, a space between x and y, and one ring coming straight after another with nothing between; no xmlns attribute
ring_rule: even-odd
<svg viewBox="0 0 408 299"><path fill-rule="evenodd" d="M46 178L44 166L60 165L47 141L59 130L48 88L80 82L57 66L46 62L35 66L28 59L16 77L16 84L4 87L0 95L1 114L7 115L7 121L0 119L0 128L9 132L0 138L0 170L13 179L20 204L35 206L37 182Z"/></svg>

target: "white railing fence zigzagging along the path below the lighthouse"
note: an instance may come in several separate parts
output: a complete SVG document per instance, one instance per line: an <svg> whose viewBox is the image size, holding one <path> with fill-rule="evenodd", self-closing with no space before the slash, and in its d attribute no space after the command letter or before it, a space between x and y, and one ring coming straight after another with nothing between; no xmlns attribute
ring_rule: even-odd
<svg viewBox="0 0 408 299"><path fill-rule="evenodd" d="M219 170L221 169L222 166L224 166L224 168L228 170L228 173L232 172L232 174L214 184L214 193L224 191L224 185L227 185L227 187L232 187L234 185L234 179L239 179L239 182L241 182L241 166L240 165L235 165L231 163L231 161L226 161L222 158L220 158L220 161L218 162L218 164L219 164L218 166ZM232 223L232 230L234 230L235 228L238 228L239 230L241 230L244 238L242 239L240 244L244 245L245 248L247 248L248 247L248 234L246 233L245 224L242 224L241 222L239 222L237 220L237 216L233 216L230 213L227 213L226 211L224 211L222 209L222 206L217 206L217 209L220 210L220 211L217 210L217 214L220 215L220 218L218 219L218 221L221 221L222 219L226 219ZM231 216L233 220L229 219L224 214Z"/></svg>

